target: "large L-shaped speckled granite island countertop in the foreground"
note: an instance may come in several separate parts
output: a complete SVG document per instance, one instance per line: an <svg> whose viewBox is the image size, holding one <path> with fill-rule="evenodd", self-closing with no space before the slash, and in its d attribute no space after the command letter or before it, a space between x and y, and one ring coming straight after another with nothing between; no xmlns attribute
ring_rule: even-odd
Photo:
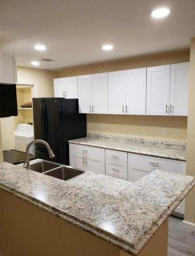
<svg viewBox="0 0 195 256"><path fill-rule="evenodd" d="M137 255L195 185L195 178L155 170L135 183L87 172L62 181L0 164L0 188L113 246Z"/></svg>

